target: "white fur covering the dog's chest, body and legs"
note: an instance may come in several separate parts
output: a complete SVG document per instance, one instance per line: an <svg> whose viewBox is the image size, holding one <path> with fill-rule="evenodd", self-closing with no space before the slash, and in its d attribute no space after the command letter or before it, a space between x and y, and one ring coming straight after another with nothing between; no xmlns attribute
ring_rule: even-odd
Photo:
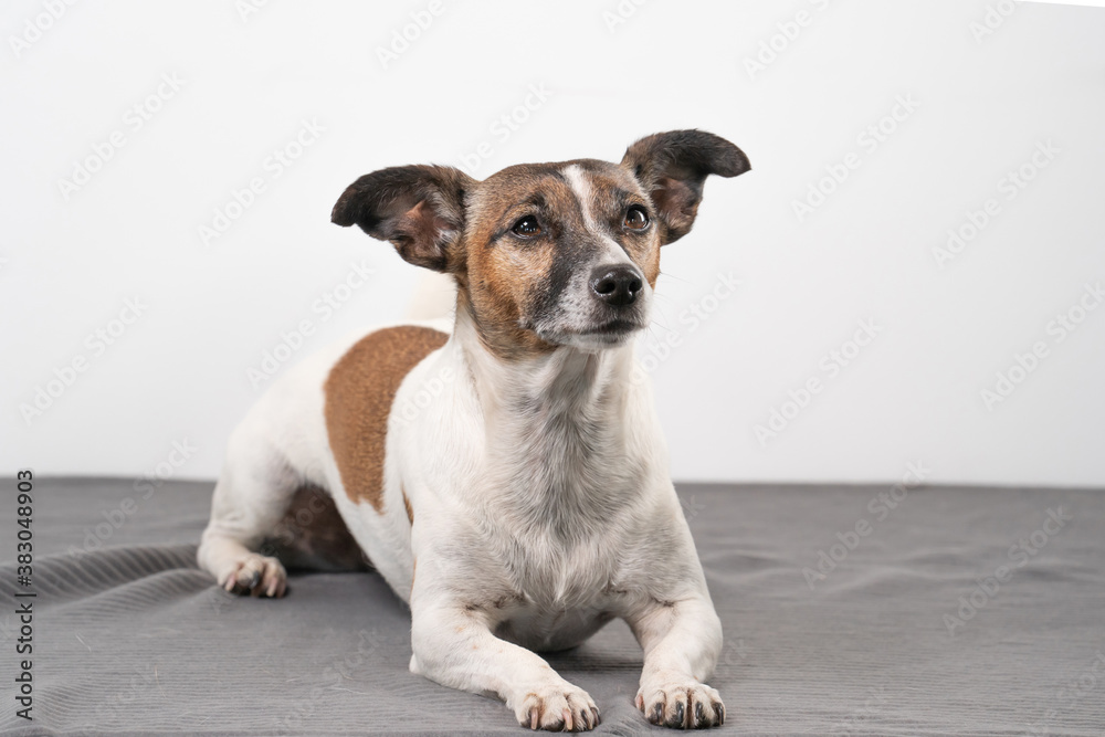
<svg viewBox="0 0 1105 737"><path fill-rule="evenodd" d="M573 168L586 211L587 182ZM617 617L644 649L638 707L670 719L690 701L719 720L720 698L703 681L720 651L720 623L669 477L651 389L630 381L631 343L562 346L508 364L460 310L448 343L400 386L378 514L347 495L323 415L323 385L352 341L290 371L235 431L200 564L228 588L241 571L260 570L267 559L252 550L309 481L333 495L409 601L413 672L498 695L527 726L588 728L590 697L533 650L577 645ZM267 565L266 591L282 591L283 570Z"/></svg>

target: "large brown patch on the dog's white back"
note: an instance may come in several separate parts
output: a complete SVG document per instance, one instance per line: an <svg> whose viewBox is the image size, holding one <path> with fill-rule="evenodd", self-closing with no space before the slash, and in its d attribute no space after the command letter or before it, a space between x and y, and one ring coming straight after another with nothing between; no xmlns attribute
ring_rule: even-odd
<svg viewBox="0 0 1105 737"><path fill-rule="evenodd" d="M414 325L371 333L343 356L326 379L326 433L346 494L383 513L388 414L399 385L449 336Z"/></svg>

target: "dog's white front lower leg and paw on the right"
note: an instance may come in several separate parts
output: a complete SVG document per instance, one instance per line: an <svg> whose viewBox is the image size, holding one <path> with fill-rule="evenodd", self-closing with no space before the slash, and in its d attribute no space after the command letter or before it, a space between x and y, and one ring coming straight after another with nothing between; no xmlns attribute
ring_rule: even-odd
<svg viewBox="0 0 1105 737"><path fill-rule="evenodd" d="M677 729L723 724L722 698L703 683L722 652L722 622L709 599L652 601L627 621L644 649L636 707L645 718Z"/></svg>

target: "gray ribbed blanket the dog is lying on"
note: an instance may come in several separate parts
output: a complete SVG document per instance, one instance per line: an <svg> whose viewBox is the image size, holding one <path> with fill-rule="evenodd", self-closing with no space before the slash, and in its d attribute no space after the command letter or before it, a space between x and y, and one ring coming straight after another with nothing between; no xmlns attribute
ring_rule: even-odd
<svg viewBox="0 0 1105 737"><path fill-rule="evenodd" d="M408 672L409 612L372 573L294 576L277 601L215 588L193 560L211 486L38 481L21 587L0 484L4 734L523 734ZM716 734L1105 735L1105 494L903 491L680 487L725 627ZM36 593L33 722L17 591ZM621 622L548 660L598 734L662 734Z"/></svg>

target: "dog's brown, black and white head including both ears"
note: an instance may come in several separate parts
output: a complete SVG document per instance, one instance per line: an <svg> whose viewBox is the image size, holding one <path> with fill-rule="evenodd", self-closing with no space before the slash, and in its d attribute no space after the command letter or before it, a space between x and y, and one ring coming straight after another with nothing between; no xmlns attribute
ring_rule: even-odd
<svg viewBox="0 0 1105 737"><path fill-rule="evenodd" d="M476 181L451 167L392 167L350 185L332 220L448 272L484 344L513 357L600 349L646 325L660 246L694 224L709 175L748 171L729 141L673 130L621 164L528 164Z"/></svg>

